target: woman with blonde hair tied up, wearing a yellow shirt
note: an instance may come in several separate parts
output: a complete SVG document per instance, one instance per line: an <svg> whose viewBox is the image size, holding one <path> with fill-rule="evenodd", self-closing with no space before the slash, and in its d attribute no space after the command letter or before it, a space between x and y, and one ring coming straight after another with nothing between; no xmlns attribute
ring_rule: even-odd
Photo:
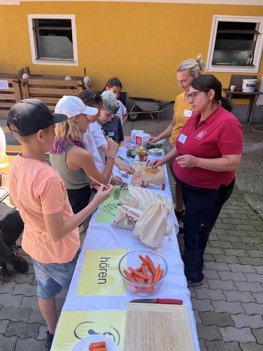
<svg viewBox="0 0 263 351"><path fill-rule="evenodd" d="M198 54L196 58L188 58L187 60L183 61L179 67L176 69L176 84L179 85L181 89L183 89L183 93L177 96L175 103L174 103L174 115L172 117L172 122L169 126L157 135L157 137L150 137L148 139L148 144L155 143L161 139L170 137L170 148L174 147L177 137L181 132L181 129L185 125L185 123L189 120L189 118L193 114L192 105L185 100L185 93L188 93L190 89L190 84L192 80L198 76L200 76L205 69L205 65L203 60L201 60L201 54ZM174 179L176 181L175 185L175 214L178 220L180 220L184 213L184 205L183 205L183 195L181 190L181 182L178 178L176 178L174 171L173 171L173 164L174 162L171 161L169 163L170 170Z"/></svg>

